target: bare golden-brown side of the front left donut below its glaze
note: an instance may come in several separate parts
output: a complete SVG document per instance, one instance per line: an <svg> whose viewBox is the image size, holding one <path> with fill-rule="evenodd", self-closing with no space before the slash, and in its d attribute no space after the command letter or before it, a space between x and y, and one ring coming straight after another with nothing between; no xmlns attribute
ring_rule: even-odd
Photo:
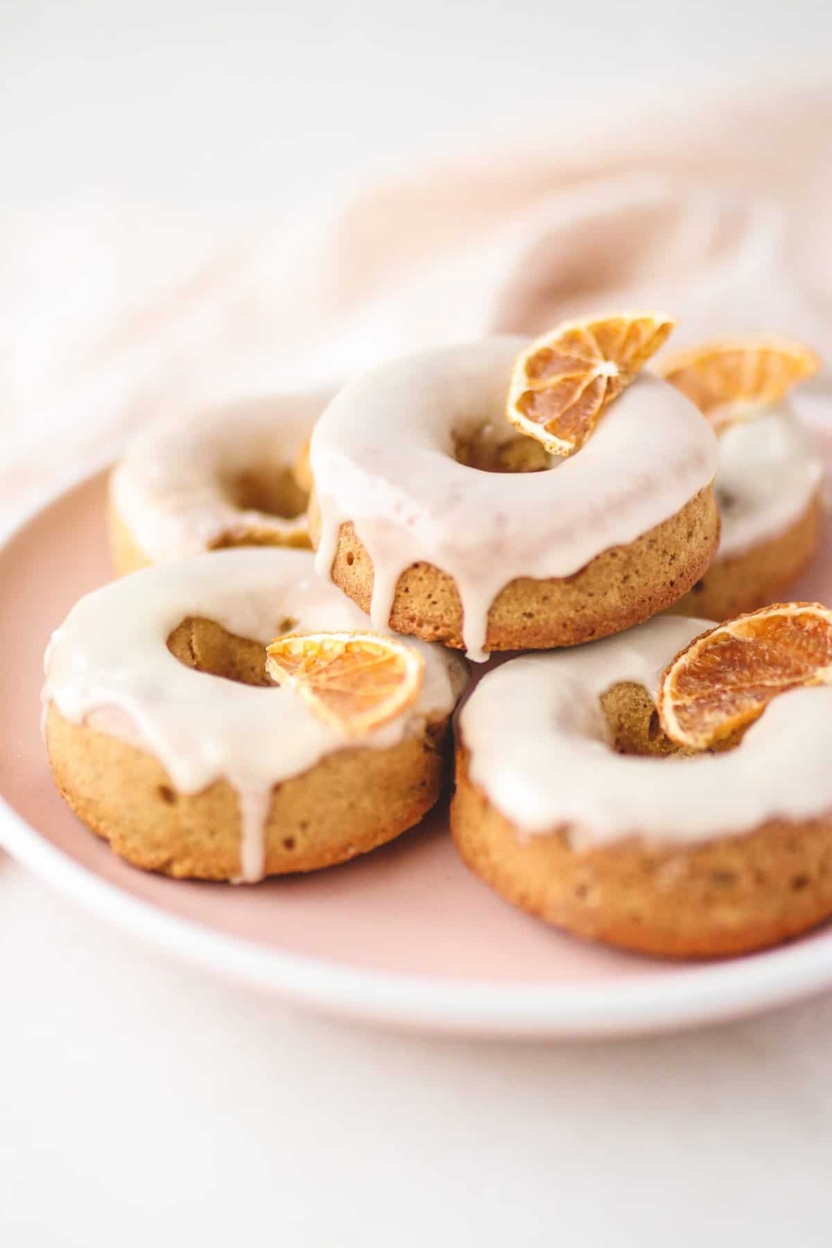
<svg viewBox="0 0 832 1248"><path fill-rule="evenodd" d="M331 754L303 775L274 785L263 874L346 862L418 824L442 791L445 735L447 720L388 750ZM71 724L55 706L46 739L61 795L121 857L177 877L239 876L238 795L226 780L201 792L178 792L153 755Z"/></svg>

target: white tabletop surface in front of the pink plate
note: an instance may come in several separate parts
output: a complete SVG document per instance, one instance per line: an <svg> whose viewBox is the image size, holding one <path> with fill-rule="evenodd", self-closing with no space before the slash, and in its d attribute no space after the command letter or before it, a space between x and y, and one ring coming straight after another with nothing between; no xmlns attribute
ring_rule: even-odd
<svg viewBox="0 0 832 1248"><path fill-rule="evenodd" d="M14 1248L828 1244L828 998L615 1046L400 1037L0 879Z"/></svg>

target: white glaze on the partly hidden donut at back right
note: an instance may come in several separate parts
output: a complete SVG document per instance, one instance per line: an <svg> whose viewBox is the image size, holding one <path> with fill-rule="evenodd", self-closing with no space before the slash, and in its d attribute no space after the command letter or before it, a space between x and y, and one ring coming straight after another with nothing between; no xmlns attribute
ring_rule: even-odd
<svg viewBox="0 0 832 1248"><path fill-rule="evenodd" d="M730 426L720 437L716 472L717 559L780 537L803 515L822 480L815 441L786 402Z"/></svg>

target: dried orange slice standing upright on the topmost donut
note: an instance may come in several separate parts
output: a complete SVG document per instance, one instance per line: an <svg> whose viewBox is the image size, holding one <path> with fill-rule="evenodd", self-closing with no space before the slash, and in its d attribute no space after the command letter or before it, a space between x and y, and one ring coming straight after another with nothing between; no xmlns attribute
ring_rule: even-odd
<svg viewBox="0 0 832 1248"><path fill-rule="evenodd" d="M509 421L551 454L571 456L672 328L657 312L565 321L516 358Z"/></svg>

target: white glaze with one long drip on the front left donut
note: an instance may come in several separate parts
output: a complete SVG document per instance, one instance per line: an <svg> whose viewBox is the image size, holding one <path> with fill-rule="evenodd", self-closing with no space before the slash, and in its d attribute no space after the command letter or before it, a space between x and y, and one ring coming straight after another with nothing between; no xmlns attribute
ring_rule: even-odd
<svg viewBox="0 0 832 1248"><path fill-rule="evenodd" d="M167 638L187 617L216 620L263 644L288 628L363 630L365 615L314 574L304 550L242 548L160 564L82 598L46 651L44 706L153 754L181 792L225 779L239 799L241 879L263 872L272 787L356 744L288 689L238 684L185 666ZM287 620L289 622L287 624ZM424 681L407 711L360 738L387 749L448 715L465 668L437 645L417 645Z"/></svg>

